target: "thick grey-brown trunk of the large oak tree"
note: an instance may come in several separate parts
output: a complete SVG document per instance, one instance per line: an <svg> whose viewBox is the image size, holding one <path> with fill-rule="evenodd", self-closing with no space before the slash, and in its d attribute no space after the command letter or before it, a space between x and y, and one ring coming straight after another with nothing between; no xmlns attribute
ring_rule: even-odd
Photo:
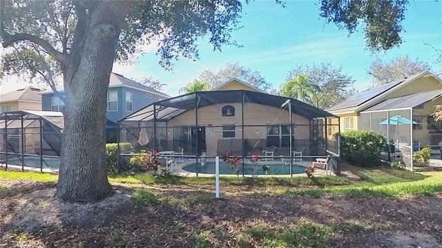
<svg viewBox="0 0 442 248"><path fill-rule="evenodd" d="M77 28L77 43L64 72L64 135L56 193L64 200L94 201L112 192L106 172L106 104L118 21L124 20L122 2L96 2L90 19L79 20L84 26Z"/></svg>

